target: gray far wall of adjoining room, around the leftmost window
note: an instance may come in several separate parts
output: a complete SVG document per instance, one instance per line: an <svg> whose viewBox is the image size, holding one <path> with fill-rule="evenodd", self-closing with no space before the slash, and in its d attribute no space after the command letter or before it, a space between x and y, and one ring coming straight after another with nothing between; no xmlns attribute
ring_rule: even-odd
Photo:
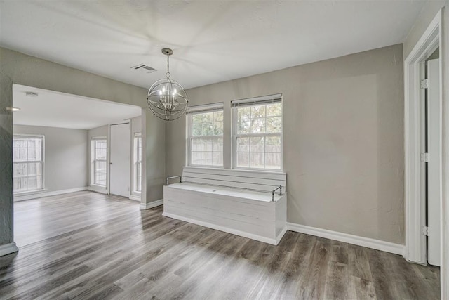
<svg viewBox="0 0 449 300"><path fill-rule="evenodd" d="M14 125L13 133L45 136L43 176L46 192L88 185L87 130Z"/></svg>

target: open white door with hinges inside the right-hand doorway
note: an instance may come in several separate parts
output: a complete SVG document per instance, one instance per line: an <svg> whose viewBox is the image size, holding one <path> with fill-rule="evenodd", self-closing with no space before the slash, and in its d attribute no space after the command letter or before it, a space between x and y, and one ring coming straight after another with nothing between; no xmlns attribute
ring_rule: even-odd
<svg viewBox="0 0 449 300"><path fill-rule="evenodd" d="M439 59L427 61L427 261L440 266L441 104Z"/></svg>

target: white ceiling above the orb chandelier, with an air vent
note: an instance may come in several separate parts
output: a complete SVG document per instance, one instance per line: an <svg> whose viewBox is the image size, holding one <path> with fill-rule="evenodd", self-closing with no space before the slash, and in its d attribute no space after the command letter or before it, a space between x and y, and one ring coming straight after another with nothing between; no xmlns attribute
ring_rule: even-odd
<svg viewBox="0 0 449 300"><path fill-rule="evenodd" d="M170 47L191 88L401 43L424 2L0 0L0 46L146 88Z"/></svg>

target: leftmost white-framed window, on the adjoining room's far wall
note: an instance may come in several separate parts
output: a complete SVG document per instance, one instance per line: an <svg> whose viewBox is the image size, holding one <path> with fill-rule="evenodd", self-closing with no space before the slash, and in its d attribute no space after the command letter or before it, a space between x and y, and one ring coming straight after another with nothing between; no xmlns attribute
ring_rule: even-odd
<svg viewBox="0 0 449 300"><path fill-rule="evenodd" d="M43 190L43 136L13 136L14 193Z"/></svg>

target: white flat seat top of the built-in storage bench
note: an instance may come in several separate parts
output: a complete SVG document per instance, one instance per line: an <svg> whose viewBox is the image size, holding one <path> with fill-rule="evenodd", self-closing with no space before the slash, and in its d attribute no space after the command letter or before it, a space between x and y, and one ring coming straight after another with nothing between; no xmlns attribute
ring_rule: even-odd
<svg viewBox="0 0 449 300"><path fill-rule="evenodd" d="M202 185L197 183L172 183L168 185L169 188L179 188L182 190L193 190L196 192L212 193L216 195L225 195L231 197L239 197L250 200L257 200L263 202L272 201L272 193L263 193L253 190L243 190L239 188L226 188L217 185ZM281 199L283 196L279 196L277 193L274 194L274 202Z"/></svg>

